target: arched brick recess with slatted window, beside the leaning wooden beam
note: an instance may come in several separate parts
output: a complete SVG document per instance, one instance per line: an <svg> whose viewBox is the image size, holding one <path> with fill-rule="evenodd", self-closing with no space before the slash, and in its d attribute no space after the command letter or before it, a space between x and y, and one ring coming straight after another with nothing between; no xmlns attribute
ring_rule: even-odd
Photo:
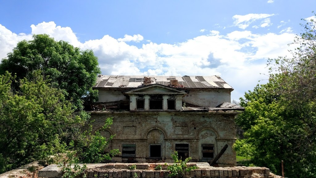
<svg viewBox="0 0 316 178"><path fill-rule="evenodd" d="M197 132L199 161L210 162L218 153L218 132L213 127L203 127Z"/></svg>

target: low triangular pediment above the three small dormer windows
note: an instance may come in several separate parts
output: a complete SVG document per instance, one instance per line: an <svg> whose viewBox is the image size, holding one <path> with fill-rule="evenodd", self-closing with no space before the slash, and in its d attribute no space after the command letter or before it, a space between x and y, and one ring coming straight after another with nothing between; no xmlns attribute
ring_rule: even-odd
<svg viewBox="0 0 316 178"><path fill-rule="evenodd" d="M184 90L177 90L173 87L164 86L160 84L153 84L148 86L142 86L125 91L126 94L186 94Z"/></svg>

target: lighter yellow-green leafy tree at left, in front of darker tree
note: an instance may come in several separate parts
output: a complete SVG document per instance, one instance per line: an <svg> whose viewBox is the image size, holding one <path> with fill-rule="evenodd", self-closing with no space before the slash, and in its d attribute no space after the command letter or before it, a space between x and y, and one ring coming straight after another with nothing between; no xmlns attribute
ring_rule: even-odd
<svg viewBox="0 0 316 178"><path fill-rule="evenodd" d="M84 120L77 116L65 91L53 87L36 71L21 79L0 75L0 171L10 170L63 150L76 137Z"/></svg>

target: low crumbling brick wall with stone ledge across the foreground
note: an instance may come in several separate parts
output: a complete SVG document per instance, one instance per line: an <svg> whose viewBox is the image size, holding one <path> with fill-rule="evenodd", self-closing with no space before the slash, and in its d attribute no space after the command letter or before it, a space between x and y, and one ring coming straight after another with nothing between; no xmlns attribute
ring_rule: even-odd
<svg viewBox="0 0 316 178"><path fill-rule="evenodd" d="M78 164L83 165L83 164ZM107 163L107 164L87 164L85 174L88 178L131 178L137 174L138 178L168 178L169 171L167 165L172 163L135 163L136 170L129 170L133 165L131 163ZM155 170L157 165L161 165L163 170ZM198 169L186 172L183 174L186 178L271 178L270 170L265 167L212 167L207 162L188 163L187 166L197 166ZM58 178L62 176L61 168L58 165L52 164L39 171L39 177Z"/></svg>

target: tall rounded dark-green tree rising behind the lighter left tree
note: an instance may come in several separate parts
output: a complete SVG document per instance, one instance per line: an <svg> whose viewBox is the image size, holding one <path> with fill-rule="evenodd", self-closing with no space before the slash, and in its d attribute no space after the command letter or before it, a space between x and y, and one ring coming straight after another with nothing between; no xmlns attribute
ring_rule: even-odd
<svg viewBox="0 0 316 178"><path fill-rule="evenodd" d="M17 79L23 79L33 70L42 70L45 76L50 76L52 85L64 89L68 93L66 99L72 99L76 111L83 109L84 101L98 100L97 90L92 90L92 86L100 68L92 50L82 51L46 34L33 35L31 41L18 42L0 64L0 74L16 73Z"/></svg>

